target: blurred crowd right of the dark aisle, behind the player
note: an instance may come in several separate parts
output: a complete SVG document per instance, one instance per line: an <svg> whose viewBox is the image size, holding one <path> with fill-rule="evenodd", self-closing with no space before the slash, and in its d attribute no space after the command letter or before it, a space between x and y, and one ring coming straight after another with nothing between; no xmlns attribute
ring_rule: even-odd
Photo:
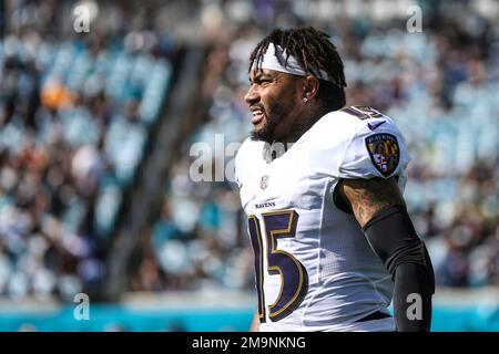
<svg viewBox="0 0 499 354"><path fill-rule="evenodd" d="M374 9L353 9L363 3ZM330 34L345 63L348 105L384 112L405 134L413 157L405 197L437 284L499 284L498 8L493 1L395 1L375 11L376 3L212 1L204 8L213 45L202 123L165 184L162 217L133 290L253 287L237 191L226 181L190 179L197 157L189 152L196 142L214 146L218 133L225 144L244 140L252 128L243 100L249 52L273 27L294 24ZM407 31L410 4L424 11L421 32Z"/></svg>

